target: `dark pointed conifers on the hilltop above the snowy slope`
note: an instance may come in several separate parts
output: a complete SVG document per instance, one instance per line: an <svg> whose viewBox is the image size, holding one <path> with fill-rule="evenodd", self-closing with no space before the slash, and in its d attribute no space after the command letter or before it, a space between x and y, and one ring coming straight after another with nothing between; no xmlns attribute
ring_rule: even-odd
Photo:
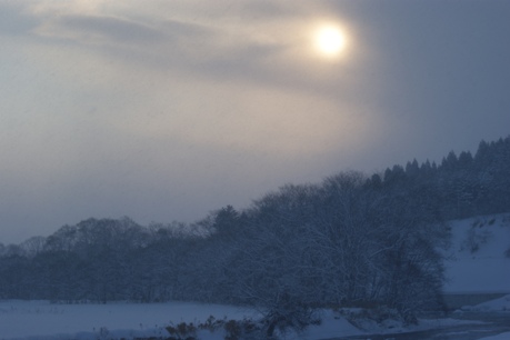
<svg viewBox="0 0 510 340"><path fill-rule="evenodd" d="M448 220L507 212L510 207L510 137L481 141L474 156L453 151L440 164L413 160L373 174L372 186L414 188L422 203L440 202Z"/></svg>

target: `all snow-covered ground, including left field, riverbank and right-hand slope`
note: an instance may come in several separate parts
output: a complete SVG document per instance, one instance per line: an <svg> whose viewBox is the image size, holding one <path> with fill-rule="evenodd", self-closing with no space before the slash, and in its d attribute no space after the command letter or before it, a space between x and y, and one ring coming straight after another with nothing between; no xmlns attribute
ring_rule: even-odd
<svg viewBox="0 0 510 340"><path fill-rule="evenodd" d="M509 294L462 311L499 311L510 316L510 213L453 221L451 260L447 261L447 292L508 292ZM470 237L471 236L471 237ZM478 249L471 251L473 248ZM462 312L459 311L459 312ZM132 339L134 337L168 336L166 327L179 322L204 322L216 319L257 317L249 309L218 304L183 302L168 303L109 303L109 304L51 304L48 301L0 301L0 340L49 339ZM456 319L420 320L413 328L398 322L376 324L366 322L360 330L346 318L324 311L322 323L311 326L304 333L289 333L284 339L328 339L369 333L393 333L443 328L472 321ZM223 334L207 330L198 334L202 340L222 340ZM487 340L510 339L510 333Z"/></svg>

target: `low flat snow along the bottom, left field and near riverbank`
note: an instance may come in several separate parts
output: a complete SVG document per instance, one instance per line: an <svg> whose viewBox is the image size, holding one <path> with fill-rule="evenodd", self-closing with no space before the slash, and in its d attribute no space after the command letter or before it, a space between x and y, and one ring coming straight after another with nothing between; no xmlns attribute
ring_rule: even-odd
<svg viewBox="0 0 510 340"><path fill-rule="evenodd" d="M510 300L510 296L508 297ZM509 306L510 308L510 306ZM112 304L51 304L48 301L0 301L1 340L107 340L134 337L168 337L164 327L179 322L257 317L257 312L219 304L199 303L112 303ZM171 323L172 322L172 323ZM391 323L391 324L390 324ZM387 324L364 323L356 328L333 311L323 311L322 323L311 326L303 333L289 332L282 339L328 339L370 333L394 333L473 323L456 319L421 320L419 326L403 328L399 322ZM201 340L223 340L222 331L202 330Z"/></svg>

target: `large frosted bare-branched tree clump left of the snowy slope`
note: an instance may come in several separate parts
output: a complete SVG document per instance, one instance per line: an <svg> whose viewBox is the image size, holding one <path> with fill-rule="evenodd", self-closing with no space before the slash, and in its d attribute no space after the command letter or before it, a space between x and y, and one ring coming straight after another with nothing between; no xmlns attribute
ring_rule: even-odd
<svg viewBox="0 0 510 340"><path fill-rule="evenodd" d="M410 318L441 303L437 244L448 229L406 192L381 192L360 173L342 173L320 187L287 186L244 218L234 262L224 263L237 270L226 283L229 292L241 289L241 303L270 311L289 301L293 310L387 304Z"/></svg>

